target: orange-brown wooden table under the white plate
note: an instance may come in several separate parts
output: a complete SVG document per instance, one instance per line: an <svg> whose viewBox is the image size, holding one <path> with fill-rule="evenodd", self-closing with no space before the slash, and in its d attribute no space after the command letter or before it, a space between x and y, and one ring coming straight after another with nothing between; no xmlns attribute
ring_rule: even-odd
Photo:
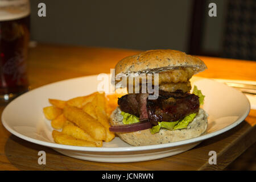
<svg viewBox="0 0 256 182"><path fill-rule="evenodd" d="M67 78L109 73L123 57L139 51L112 48L52 46L30 49L28 75L31 88ZM198 76L256 81L256 62L200 57L208 70ZM0 106L2 113L5 106ZM205 140L192 150L168 158L135 163L98 163L73 159L51 148L10 134L0 124L1 170L202 170L224 169L256 140L256 111L234 129ZM46 151L47 164L38 164L38 151ZM209 151L217 152L217 165L209 165Z"/></svg>

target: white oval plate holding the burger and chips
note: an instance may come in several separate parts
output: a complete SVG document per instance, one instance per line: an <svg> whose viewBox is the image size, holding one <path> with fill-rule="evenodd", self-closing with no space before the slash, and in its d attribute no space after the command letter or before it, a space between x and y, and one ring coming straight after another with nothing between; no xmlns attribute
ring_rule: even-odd
<svg viewBox="0 0 256 182"><path fill-rule="evenodd" d="M195 78L192 79L192 85L197 85L206 96L204 110L209 114L209 126L207 133L192 139L138 147L130 146L118 137L104 143L103 147L78 147L53 142L51 123L44 118L42 111L43 107L49 105L48 98L68 100L95 92L100 82L97 76L73 78L31 90L6 106L2 113L2 123L19 138L51 147L73 158L96 162L160 159L187 151L202 140L232 129L249 114L250 104L242 93L213 80Z"/></svg>

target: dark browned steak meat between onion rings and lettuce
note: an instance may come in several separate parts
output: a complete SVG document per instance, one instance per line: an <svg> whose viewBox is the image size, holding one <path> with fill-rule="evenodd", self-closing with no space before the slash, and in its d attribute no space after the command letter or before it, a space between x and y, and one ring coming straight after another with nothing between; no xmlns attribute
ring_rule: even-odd
<svg viewBox="0 0 256 182"><path fill-rule="evenodd" d="M136 115L141 121L148 120L152 125L162 121L174 122L199 111L199 97L181 90L159 90L156 100L147 97L147 93L126 94L118 98L118 105L125 113Z"/></svg>

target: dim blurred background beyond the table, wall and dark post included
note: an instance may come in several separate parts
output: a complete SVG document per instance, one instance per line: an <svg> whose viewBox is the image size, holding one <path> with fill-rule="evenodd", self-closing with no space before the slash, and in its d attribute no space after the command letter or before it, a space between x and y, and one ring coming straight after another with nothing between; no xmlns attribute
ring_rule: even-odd
<svg viewBox="0 0 256 182"><path fill-rule="evenodd" d="M255 0L32 0L31 40L256 60L255 12Z"/></svg>

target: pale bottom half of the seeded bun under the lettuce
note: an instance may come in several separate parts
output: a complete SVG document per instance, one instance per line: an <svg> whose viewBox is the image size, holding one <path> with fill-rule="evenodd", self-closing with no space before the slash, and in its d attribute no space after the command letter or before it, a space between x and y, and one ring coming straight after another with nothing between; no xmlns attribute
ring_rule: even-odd
<svg viewBox="0 0 256 182"><path fill-rule="evenodd" d="M135 131L130 133L116 133L119 138L121 138L126 143L132 146L147 146L152 144L162 144L177 142L180 140L190 139L194 137L199 137L201 134L205 133L208 126L207 120L208 114L205 113L203 109L199 110L199 113L189 123L186 129L180 130L167 130L160 129L159 133L151 134L150 129ZM119 107L115 109L110 116L110 122L112 125L122 125L122 115Z"/></svg>

